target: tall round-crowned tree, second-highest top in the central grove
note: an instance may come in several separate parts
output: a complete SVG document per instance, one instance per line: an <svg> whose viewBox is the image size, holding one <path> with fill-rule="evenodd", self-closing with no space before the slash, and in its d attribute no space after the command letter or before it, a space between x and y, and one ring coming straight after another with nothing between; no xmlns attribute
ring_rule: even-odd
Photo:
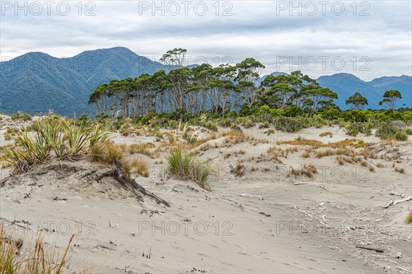
<svg viewBox="0 0 412 274"><path fill-rule="evenodd" d="M265 67L253 58L246 58L236 64L236 68L238 75L235 80L238 82L238 89L243 93L247 107L251 109L257 98L255 81L260 78L260 73Z"/></svg>

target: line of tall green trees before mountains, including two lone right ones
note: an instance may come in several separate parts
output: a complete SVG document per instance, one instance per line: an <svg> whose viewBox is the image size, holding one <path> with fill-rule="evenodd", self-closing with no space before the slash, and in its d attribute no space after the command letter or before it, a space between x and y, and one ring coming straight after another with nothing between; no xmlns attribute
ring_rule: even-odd
<svg viewBox="0 0 412 274"><path fill-rule="evenodd" d="M260 106L271 109L299 107L318 111L334 106L338 95L321 87L316 80L293 71L290 75L268 75L261 82L260 73L265 68L254 58L246 58L236 65L211 67L205 63L183 67L186 49L172 49L160 59L170 66L164 70L147 73L137 78L111 80L101 84L90 94L89 104L98 113L122 113L126 117L146 115L150 111L168 113L185 109L192 114L225 113L251 110ZM394 109L399 91L387 91L380 104ZM366 98L356 92L347 101L356 109L367 104Z"/></svg>

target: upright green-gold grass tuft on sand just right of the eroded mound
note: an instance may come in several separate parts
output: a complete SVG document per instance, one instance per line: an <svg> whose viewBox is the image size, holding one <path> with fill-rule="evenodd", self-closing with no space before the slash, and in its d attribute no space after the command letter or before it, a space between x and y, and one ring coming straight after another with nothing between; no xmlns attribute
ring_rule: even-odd
<svg viewBox="0 0 412 274"><path fill-rule="evenodd" d="M194 181L205 190L211 190L207 179L213 170L207 163L196 159L190 153L183 153L179 148L170 152L166 157L168 176L180 179Z"/></svg>

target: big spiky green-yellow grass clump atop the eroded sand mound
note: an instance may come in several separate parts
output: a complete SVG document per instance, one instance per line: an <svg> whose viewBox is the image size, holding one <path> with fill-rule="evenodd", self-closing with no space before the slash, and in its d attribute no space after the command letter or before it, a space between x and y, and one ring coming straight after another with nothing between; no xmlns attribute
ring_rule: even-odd
<svg viewBox="0 0 412 274"><path fill-rule="evenodd" d="M27 172L32 165L53 158L73 161L91 155L93 160L102 156L109 139L103 126L51 117L37 123L33 134L18 133L17 148L5 148L12 174Z"/></svg>

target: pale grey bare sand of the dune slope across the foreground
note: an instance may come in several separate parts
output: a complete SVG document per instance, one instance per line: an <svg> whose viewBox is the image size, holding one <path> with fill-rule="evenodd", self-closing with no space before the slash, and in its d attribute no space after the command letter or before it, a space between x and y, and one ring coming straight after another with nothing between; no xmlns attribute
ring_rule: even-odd
<svg viewBox="0 0 412 274"><path fill-rule="evenodd" d="M53 174L1 187L0 214L7 220L30 222L29 230L10 228L16 233L25 231L27 240L36 230L36 222L43 227L53 222L49 228L54 232L43 231L45 242L61 249L69 238L62 235L69 225L76 233L76 246L70 248L72 266L87 264L97 273L125 273L125 269L129 273L402 273L396 266L411 270L411 225L403 222L411 202L382 208L391 198L400 198L389 196L391 191L411 194L410 142L398 146L404 161L396 166L403 167L405 174L394 170L393 161L374 159L374 164L384 166L354 177L353 171L360 172L361 165L340 166L334 157L304 159L303 150L282 159L282 166L314 163L318 171L325 167L324 176L291 179L279 172L279 163L251 161L276 146L279 139L300 135L328 142L328 137L319 137L319 132L326 130L336 131L331 141L347 137L339 128L310 128L295 135L275 133L269 137L262 133L264 129L253 128L247 133L266 138L269 144L245 142L214 148L222 139L209 141L211 148L199 157L220 170L218 178L210 182L213 192L192 182L162 181L156 174L138 179L169 201L170 208L149 198L138 203L124 191L104 185L82 189L75 183L74 187L64 174L59 178ZM118 137L117 141L128 143L128 138ZM133 142L139 138L153 141L130 138ZM244 154L236 157L238 150ZM225 157L228 152L232 155ZM164 166L146 160L156 172ZM240 160L246 172L236 177L228 170ZM330 174L336 166L344 172L342 178ZM325 188L293 184L301 181ZM263 200L240 194L262 196ZM358 244L385 252L356 249ZM396 258L398 252L402 253L400 259ZM148 253L150 258L146 258Z"/></svg>

